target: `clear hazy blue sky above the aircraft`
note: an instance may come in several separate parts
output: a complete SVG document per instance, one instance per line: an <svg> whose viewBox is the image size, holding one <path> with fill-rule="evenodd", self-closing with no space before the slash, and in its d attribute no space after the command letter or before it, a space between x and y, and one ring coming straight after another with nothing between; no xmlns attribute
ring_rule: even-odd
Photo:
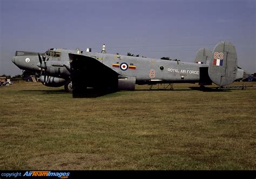
<svg viewBox="0 0 256 179"><path fill-rule="evenodd" d="M256 72L255 0L0 0L0 75L22 74L15 51L127 52L193 63L198 49L231 42Z"/></svg>

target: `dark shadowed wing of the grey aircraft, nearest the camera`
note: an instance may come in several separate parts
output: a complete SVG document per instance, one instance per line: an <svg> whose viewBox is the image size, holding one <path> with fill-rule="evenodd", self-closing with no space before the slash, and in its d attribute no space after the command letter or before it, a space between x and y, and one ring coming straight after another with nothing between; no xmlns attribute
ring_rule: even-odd
<svg viewBox="0 0 256 179"><path fill-rule="evenodd" d="M69 59L73 96L85 93L87 87L115 89L118 87L118 78L125 78L95 58L69 53Z"/></svg>

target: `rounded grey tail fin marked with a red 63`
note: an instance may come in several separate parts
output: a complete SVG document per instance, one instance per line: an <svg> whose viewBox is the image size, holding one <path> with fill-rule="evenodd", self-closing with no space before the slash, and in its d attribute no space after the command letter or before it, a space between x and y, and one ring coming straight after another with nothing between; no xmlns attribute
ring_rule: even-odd
<svg viewBox="0 0 256 179"><path fill-rule="evenodd" d="M213 50L208 68L212 82L219 86L231 84L237 79L237 51L229 42L220 42Z"/></svg>

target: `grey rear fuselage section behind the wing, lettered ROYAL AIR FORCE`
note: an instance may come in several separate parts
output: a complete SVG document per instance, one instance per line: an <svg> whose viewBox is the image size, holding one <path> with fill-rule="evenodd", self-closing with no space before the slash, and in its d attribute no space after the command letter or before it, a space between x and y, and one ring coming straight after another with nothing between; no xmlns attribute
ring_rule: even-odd
<svg viewBox="0 0 256 179"><path fill-rule="evenodd" d="M84 56L96 58L114 71L127 77L136 77L136 84L198 82L199 67L204 64L161 60L117 54L85 52ZM97 66L92 66L97 71Z"/></svg>

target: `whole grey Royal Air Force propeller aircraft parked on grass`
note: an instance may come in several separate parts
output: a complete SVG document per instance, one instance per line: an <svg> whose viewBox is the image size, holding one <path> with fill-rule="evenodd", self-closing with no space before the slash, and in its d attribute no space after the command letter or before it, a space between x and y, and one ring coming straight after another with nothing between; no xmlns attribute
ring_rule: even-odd
<svg viewBox="0 0 256 179"><path fill-rule="evenodd" d="M241 79L244 70L237 66L237 52L229 42L220 42L213 52L200 49L195 63L160 60L90 50L50 49L45 53L23 52L12 61L23 70L41 71L46 86L71 86L73 97L85 94L88 87L100 90L134 90L135 85L199 83L219 86ZM42 56L42 57L41 57Z"/></svg>

